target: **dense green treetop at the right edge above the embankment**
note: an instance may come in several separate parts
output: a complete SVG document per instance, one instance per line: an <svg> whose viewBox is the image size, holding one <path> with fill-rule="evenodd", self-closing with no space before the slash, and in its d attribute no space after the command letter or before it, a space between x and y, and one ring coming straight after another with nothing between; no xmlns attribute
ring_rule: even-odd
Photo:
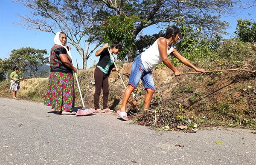
<svg viewBox="0 0 256 165"><path fill-rule="evenodd" d="M239 40L243 42L255 42L256 41L256 23L250 22L250 20L237 20L237 28L235 34Z"/></svg>

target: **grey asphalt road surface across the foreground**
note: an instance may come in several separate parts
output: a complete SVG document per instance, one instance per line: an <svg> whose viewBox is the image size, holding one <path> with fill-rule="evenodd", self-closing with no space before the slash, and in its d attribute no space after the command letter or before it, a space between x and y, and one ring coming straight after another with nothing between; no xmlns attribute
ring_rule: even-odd
<svg viewBox="0 0 256 165"><path fill-rule="evenodd" d="M7 98L0 98L0 114L1 165L256 164L255 130L154 131L116 113L61 116L42 103Z"/></svg>

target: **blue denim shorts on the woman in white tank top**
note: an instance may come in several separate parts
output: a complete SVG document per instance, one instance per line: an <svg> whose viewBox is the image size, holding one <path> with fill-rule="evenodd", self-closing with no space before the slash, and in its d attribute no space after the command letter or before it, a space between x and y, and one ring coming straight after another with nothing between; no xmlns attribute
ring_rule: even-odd
<svg viewBox="0 0 256 165"><path fill-rule="evenodd" d="M155 90L152 72L145 71L141 61L141 55L134 59L134 62L131 66L131 75L128 84L136 88L140 83L140 79L142 80L145 89Z"/></svg>

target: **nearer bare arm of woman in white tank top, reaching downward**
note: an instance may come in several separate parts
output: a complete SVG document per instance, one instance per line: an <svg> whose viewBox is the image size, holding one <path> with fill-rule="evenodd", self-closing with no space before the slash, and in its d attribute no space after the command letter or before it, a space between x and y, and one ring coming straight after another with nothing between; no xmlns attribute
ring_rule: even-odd
<svg viewBox="0 0 256 165"><path fill-rule="evenodd" d="M169 58L167 57L167 50L166 50L167 42L166 42L166 40L163 38L160 38L157 41L157 44L158 44L158 49L159 49L160 56L161 56L161 59L162 59L164 65L166 65L168 68L172 69L175 76L179 76L180 72L177 70L177 68L175 68L174 65L172 65Z"/></svg>

